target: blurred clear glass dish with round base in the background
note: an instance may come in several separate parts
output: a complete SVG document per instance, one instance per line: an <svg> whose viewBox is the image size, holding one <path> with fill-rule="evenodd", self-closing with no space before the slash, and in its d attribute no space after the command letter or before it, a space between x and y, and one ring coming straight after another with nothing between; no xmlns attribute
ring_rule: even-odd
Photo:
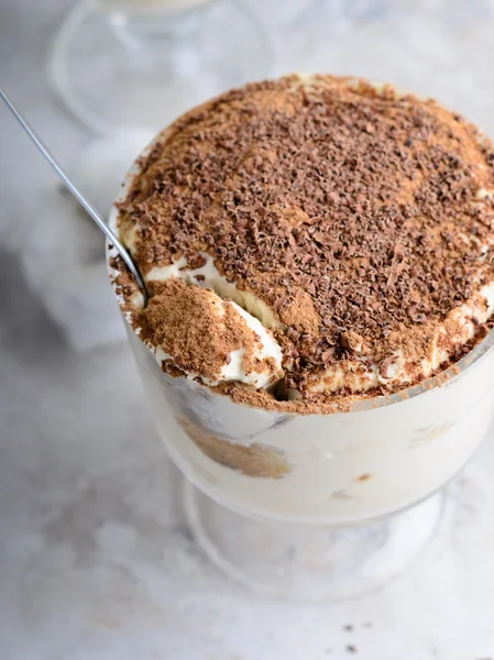
<svg viewBox="0 0 494 660"><path fill-rule="evenodd" d="M270 75L255 14L233 0L83 0L62 25L48 74L86 127L152 134L188 108Z"/></svg>

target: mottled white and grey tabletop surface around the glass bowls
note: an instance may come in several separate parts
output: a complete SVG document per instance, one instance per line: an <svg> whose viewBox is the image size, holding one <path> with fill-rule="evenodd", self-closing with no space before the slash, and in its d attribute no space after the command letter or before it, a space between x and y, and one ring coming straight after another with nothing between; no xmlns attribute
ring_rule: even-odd
<svg viewBox="0 0 494 660"><path fill-rule="evenodd" d="M469 3L477 18L462 21L470 45L458 37L460 55L451 51L455 41L449 32L438 57L437 44L418 43L415 30L424 21L402 25L398 36L415 43L418 53L415 68L403 64L403 79L409 84L415 77L422 89L440 82L440 96L494 130L481 4L487 6ZM325 51L330 64L322 66L321 42L310 45L308 33L295 34L287 53L282 37L293 16L279 18L279 0L270 6L273 23L278 20L277 67L292 68L298 57L304 66L297 68L340 62L333 68L341 70L341 61L331 55L334 43ZM88 135L57 107L43 77L46 45L63 7L55 0L0 0L0 78L46 141L57 145L61 160L70 160ZM331 30L342 31L344 41L350 28L340 23ZM377 23L355 30L362 40L366 34L364 44L381 43L387 34ZM431 22L430 30L439 40L442 28ZM396 48L398 36L387 34L382 47ZM430 59L427 48L433 51ZM376 75L381 63L383 74L376 77L383 78L397 66L386 53L381 59L377 51L372 58L364 55L353 54L352 68L360 73L376 69ZM469 67L481 62L486 85L473 98L480 78ZM190 538L179 477L152 428L127 345L72 350L28 285L19 254L25 232L50 221L43 196L54 182L2 108L0 132L0 658L493 658L492 437L450 486L435 540L382 592L340 605L296 606L231 583ZM344 629L349 624L352 630Z"/></svg>

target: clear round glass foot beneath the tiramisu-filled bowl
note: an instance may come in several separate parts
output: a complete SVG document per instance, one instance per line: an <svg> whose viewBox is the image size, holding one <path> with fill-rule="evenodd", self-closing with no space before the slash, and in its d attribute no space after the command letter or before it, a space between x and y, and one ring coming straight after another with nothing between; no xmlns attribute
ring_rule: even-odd
<svg viewBox="0 0 494 660"><path fill-rule="evenodd" d="M374 521L325 527L253 519L184 481L197 543L224 573L271 596L320 602L354 598L383 586L433 536L443 495Z"/></svg>

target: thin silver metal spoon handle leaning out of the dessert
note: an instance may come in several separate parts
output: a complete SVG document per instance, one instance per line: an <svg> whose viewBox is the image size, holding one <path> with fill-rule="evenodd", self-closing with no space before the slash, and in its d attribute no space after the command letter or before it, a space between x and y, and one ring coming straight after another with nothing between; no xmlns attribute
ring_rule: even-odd
<svg viewBox="0 0 494 660"><path fill-rule="evenodd" d="M43 144L43 142L40 140L40 138L36 135L36 133L33 131L33 129L29 125L29 123L25 121L25 119L22 117L22 114L19 112L19 110L15 108L15 106L12 103L12 101L10 100L10 98L7 96L7 94L3 91L3 89L1 87L0 87L0 96L6 101L8 108L11 110L11 112L13 113L15 119L19 121L19 123L22 125L24 131L28 133L28 135L31 138L31 140L34 142L34 144L37 146L37 148L44 155L46 161L48 161L48 163L52 165L52 167L58 174L61 179L64 182L64 184L67 186L67 188L74 195L74 197L80 204L80 206L89 213L89 216L92 218L92 220L96 222L96 224L106 234L108 240L116 246L117 252L120 254L120 256L125 262L127 266L129 267L129 271L135 277L135 280L136 280L139 287L142 289L144 297L146 298L146 287L145 287L144 278L143 278L140 270L135 265L133 258L127 251L127 249L122 245L122 243L116 237L113 231L105 222L101 215L95 209L95 207L83 196L83 194L72 183L72 180L68 178L68 176L65 174L65 172L62 169L62 167L58 165L58 163L52 156L50 151L46 148L46 146Z"/></svg>

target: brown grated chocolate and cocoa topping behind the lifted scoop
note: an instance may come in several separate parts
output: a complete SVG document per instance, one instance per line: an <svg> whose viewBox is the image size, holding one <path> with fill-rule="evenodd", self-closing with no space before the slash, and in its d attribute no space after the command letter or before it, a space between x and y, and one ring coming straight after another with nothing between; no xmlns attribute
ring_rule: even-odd
<svg viewBox="0 0 494 660"><path fill-rule="evenodd" d="M493 189L494 147L461 116L389 85L293 75L164 131L119 222L144 275L207 253L266 302L304 395L349 355L386 377L399 349L408 382L421 377L435 330L494 282Z"/></svg>

